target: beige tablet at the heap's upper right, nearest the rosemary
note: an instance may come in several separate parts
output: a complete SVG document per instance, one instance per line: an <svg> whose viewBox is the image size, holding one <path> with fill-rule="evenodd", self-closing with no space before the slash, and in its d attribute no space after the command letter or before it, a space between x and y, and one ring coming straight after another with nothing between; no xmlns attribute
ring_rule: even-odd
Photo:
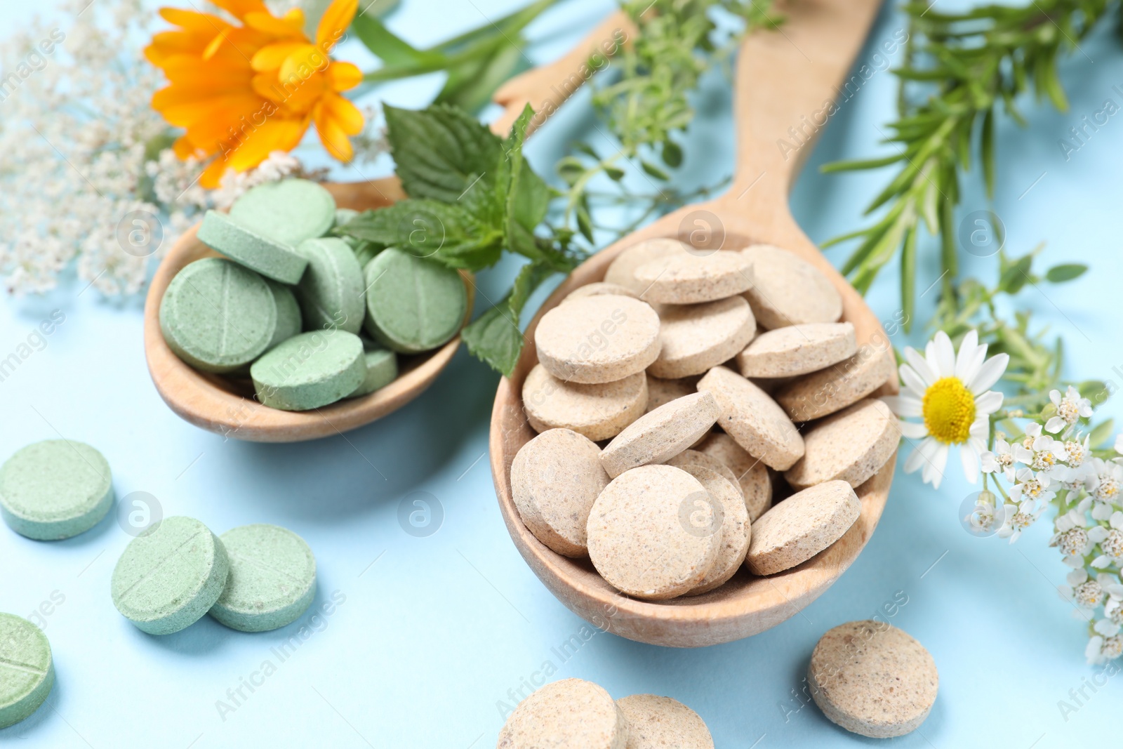
<svg viewBox="0 0 1123 749"><path fill-rule="evenodd" d="M842 317L842 296L811 263L772 245L750 245L741 255L752 283L745 298L761 327L772 330Z"/></svg>

